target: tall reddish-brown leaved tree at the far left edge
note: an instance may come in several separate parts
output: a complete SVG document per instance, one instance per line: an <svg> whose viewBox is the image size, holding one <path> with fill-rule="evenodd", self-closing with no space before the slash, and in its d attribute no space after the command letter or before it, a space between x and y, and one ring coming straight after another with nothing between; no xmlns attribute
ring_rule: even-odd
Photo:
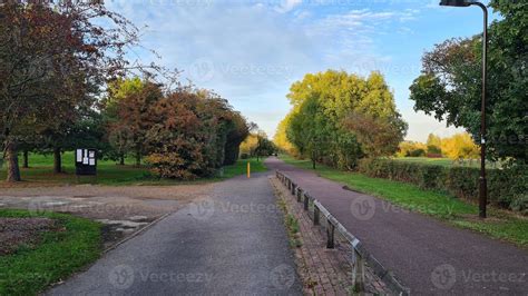
<svg viewBox="0 0 528 296"><path fill-rule="evenodd" d="M137 30L102 1L6 1L0 14L0 130L7 180L19 181L19 144L63 135L97 86L123 71Z"/></svg>

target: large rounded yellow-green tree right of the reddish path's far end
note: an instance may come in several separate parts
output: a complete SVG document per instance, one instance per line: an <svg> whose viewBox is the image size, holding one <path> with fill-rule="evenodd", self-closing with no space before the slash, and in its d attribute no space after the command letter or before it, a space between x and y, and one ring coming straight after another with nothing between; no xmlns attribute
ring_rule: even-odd
<svg viewBox="0 0 528 296"><path fill-rule="evenodd" d="M313 167L325 161L352 169L359 158L392 155L407 124L382 75L368 78L329 70L306 75L287 95L293 108L284 125L287 140ZM375 127L379 135L370 135Z"/></svg>

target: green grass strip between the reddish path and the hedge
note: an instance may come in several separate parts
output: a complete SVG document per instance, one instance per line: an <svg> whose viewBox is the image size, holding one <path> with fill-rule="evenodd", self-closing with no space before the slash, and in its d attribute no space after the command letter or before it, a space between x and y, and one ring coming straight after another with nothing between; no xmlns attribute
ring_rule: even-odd
<svg viewBox="0 0 528 296"><path fill-rule="evenodd" d="M281 159L313 171L310 160L297 160L290 156L281 156ZM323 178L345 184L353 190L387 199L402 208L528 248L528 219L514 213L490 208L490 218L480 220L476 218L478 214L477 205L443 193L423 190L404 182L370 178L361 174L341 171L322 165L317 166L316 172Z"/></svg>

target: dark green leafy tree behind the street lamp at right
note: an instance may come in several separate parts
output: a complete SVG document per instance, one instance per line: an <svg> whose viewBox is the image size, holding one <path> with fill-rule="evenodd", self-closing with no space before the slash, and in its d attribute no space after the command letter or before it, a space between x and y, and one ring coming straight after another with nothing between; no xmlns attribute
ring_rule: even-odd
<svg viewBox="0 0 528 296"><path fill-rule="evenodd" d="M501 14L489 28L488 155L528 161L528 10L522 1L492 0ZM414 109L466 128L480 142L481 36L450 39L423 57L411 86Z"/></svg>

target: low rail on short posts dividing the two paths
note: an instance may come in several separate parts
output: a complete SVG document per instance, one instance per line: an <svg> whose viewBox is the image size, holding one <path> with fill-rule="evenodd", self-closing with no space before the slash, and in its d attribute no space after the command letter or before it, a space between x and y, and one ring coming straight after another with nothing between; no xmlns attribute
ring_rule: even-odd
<svg viewBox="0 0 528 296"><path fill-rule="evenodd" d="M313 224L322 226L322 221L325 221L326 230L326 248L335 247L335 233L344 238L346 244L351 248L350 263L352 265L352 283L359 292L364 292L365 280L365 264L368 264L374 272L374 274L388 285L388 287L397 295L410 295L409 288L402 286L390 273L361 244L361 241L354 237L344 226L330 214L330 211L314 197L310 196L304 189L297 184L293 182L290 177L285 174L276 170L276 177L281 182L287 187L290 193L296 197L297 203L303 204L303 209L309 211L309 216L312 218ZM312 207L310 207L312 205ZM312 209L312 211L311 211ZM324 220L325 219L325 220Z"/></svg>

